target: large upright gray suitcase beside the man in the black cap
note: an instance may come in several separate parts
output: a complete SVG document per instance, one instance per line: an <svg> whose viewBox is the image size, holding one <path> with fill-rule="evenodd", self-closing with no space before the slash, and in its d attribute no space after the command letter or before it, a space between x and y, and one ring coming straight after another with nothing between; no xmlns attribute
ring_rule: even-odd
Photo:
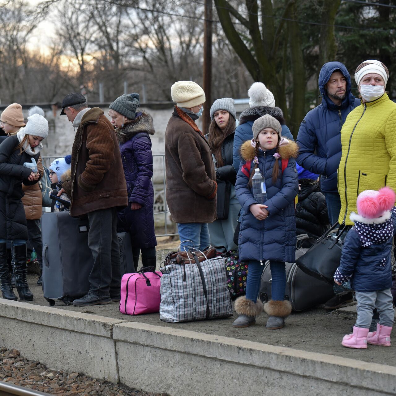
<svg viewBox="0 0 396 396"><path fill-rule="evenodd" d="M93 257L88 246L88 218L69 212L43 213L43 292L49 305L55 300L66 305L89 291L88 276Z"/></svg>

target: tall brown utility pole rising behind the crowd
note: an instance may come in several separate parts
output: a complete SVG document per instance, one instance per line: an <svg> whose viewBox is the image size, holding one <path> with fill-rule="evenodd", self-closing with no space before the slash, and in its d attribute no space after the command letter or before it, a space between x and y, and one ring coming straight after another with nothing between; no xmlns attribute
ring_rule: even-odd
<svg viewBox="0 0 396 396"><path fill-rule="evenodd" d="M206 133L210 124L210 107L212 105L212 1L205 0L204 23L204 91L206 102L202 118L202 132Z"/></svg>

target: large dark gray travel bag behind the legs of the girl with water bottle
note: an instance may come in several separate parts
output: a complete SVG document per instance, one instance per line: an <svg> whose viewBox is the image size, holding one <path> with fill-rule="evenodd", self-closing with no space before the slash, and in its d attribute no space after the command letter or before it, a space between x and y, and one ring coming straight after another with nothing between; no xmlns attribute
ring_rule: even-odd
<svg viewBox="0 0 396 396"><path fill-rule="evenodd" d="M299 235L297 239L305 239L301 237ZM308 248L297 247L296 259L302 256L307 250ZM271 299L271 288L270 264L267 261L261 275L259 294L261 301ZM315 305L326 303L333 296L333 286L306 274L296 263L286 263L285 299L290 301L293 311L303 311Z"/></svg>

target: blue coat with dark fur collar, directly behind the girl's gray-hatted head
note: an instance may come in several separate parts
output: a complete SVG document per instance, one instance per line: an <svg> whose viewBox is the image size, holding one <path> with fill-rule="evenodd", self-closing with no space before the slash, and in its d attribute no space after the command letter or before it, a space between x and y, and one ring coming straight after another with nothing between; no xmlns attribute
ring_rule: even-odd
<svg viewBox="0 0 396 396"><path fill-rule="evenodd" d="M283 112L279 107L254 106L244 110L239 117L239 125L236 127L234 134L232 166L236 172L238 172L242 165L242 158L240 156L241 146L248 139L253 139L253 131L251 129L253 122L258 118L265 116L265 114L269 114L280 122L282 126L282 137L286 137L286 139L291 141L294 140L289 128L285 125Z"/></svg>

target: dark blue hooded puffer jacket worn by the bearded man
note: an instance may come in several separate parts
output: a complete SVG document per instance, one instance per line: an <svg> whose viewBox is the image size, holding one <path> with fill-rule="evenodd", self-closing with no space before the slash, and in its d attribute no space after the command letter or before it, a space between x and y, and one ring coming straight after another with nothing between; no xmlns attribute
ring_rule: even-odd
<svg viewBox="0 0 396 396"><path fill-rule="evenodd" d="M325 89L331 73L340 70L346 77L346 95L341 106L327 96ZM310 110L301 122L297 144L300 154L297 162L312 173L322 175L320 187L323 192L337 192L337 169L341 160L341 128L346 116L357 106L360 99L351 93L350 75L340 62L325 63L319 74L322 103Z"/></svg>

